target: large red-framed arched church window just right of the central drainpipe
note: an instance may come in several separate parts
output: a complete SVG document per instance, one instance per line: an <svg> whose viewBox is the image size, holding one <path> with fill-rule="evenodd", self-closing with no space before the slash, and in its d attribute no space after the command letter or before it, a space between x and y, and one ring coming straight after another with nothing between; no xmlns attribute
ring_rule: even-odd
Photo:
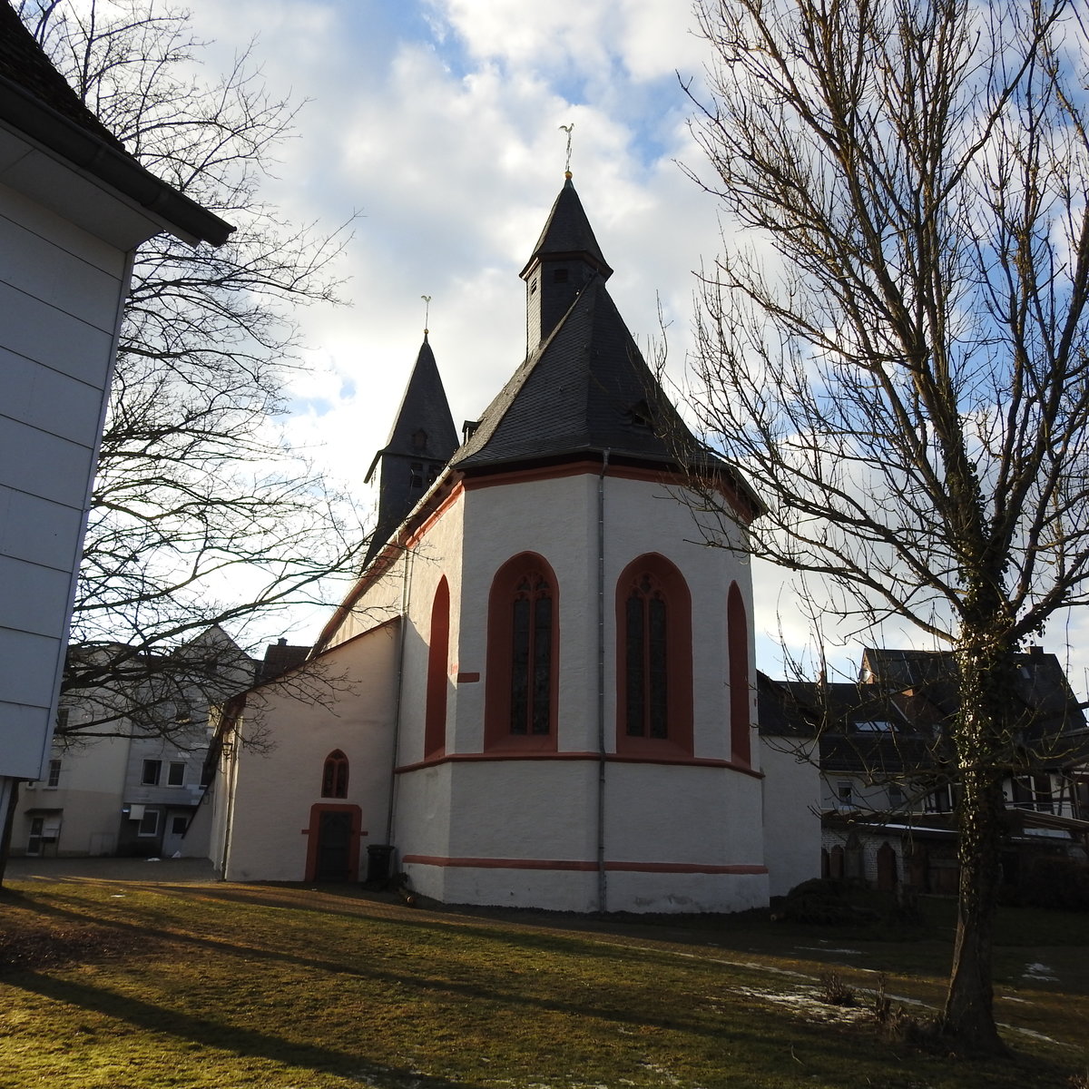
<svg viewBox="0 0 1089 1089"><path fill-rule="evenodd" d="M616 751L692 756L692 595L663 555L616 582Z"/></svg>

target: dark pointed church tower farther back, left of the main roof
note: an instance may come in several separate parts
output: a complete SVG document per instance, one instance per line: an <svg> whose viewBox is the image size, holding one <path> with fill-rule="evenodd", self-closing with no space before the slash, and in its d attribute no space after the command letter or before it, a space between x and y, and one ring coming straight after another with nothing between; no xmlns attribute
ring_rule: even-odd
<svg viewBox="0 0 1089 1089"><path fill-rule="evenodd" d="M378 525L366 563L404 522L456 449L457 429L425 329L390 437L367 470L366 484L378 474Z"/></svg>

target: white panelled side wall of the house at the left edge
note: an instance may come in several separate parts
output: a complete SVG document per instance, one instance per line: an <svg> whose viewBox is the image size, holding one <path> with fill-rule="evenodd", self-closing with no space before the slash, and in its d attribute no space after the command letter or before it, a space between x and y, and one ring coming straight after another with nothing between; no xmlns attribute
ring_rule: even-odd
<svg viewBox="0 0 1089 1089"><path fill-rule="evenodd" d="M49 756L126 268L0 185L0 776L37 779Z"/></svg>

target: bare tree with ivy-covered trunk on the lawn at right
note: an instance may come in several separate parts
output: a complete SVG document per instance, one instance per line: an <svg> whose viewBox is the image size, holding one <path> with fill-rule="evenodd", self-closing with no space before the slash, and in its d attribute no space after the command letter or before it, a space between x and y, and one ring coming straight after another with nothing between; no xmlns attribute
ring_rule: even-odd
<svg viewBox="0 0 1089 1089"><path fill-rule="evenodd" d="M738 229L701 278L695 411L768 504L754 554L856 629L906 620L955 654L941 1026L998 1052L1012 656L1087 600L1087 28L1068 0L696 10L694 132Z"/></svg>

